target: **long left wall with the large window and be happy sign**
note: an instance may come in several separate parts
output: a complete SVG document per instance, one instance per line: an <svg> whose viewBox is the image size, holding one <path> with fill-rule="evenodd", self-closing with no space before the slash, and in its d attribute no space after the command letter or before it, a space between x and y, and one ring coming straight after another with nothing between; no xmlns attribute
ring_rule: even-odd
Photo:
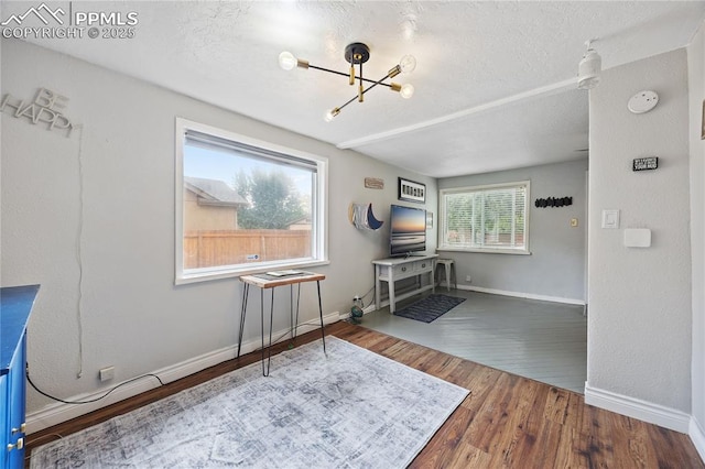
<svg viewBox="0 0 705 469"><path fill-rule="evenodd" d="M32 98L40 87L52 89L69 98L64 112L83 124L65 138L1 117L1 280L6 286L42 284L29 363L34 381L54 395L104 389L97 373L106 366L116 367L118 383L237 341L236 279L174 286L177 116L329 159L330 264L315 269L327 276L324 315L349 312L352 296L373 285L370 261L388 252L386 229L362 232L348 222L350 203L372 203L388 220L397 177L405 176L427 185L426 206L435 210L432 178L28 43L1 45L3 94ZM366 176L383 178L384 189L365 188ZM430 241L434 250L435 230ZM315 319L315 290L302 291L302 320ZM246 341L259 340L258 296L250 295ZM275 329L288 325L288 310L280 316ZM48 404L30 391L30 414Z"/></svg>

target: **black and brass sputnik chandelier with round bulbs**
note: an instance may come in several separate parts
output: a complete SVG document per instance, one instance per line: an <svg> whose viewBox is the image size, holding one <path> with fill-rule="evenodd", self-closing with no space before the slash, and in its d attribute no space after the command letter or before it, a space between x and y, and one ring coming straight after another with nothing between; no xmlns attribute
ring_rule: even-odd
<svg viewBox="0 0 705 469"><path fill-rule="evenodd" d="M350 98L350 100L348 100L343 106L338 106L336 108L333 108L328 112L326 112L325 120L330 122L333 118L338 116L340 113L340 110L345 108L347 105L349 105L350 102L355 101L356 99L358 100L358 102L364 102L365 94L370 89L375 88L377 85L386 86L390 90L399 92L399 95L404 99L409 99L413 96L414 87L411 84L399 85L397 83L384 83L386 79L393 78L399 74L408 74L413 72L414 68L416 67L416 59L412 55L404 55L403 57L401 57L401 59L399 61L399 64L393 66L387 73L387 75L384 75L382 78L378 79L377 81L365 78L362 76L362 64L365 64L369 58L370 58L370 48L366 44L362 44L360 42L354 42L352 44L348 44L345 47L345 61L350 64L349 73L336 72L328 68L311 65L308 61L303 61L301 58L294 57L294 55L291 52L282 52L281 54L279 54L279 65L285 70L291 70L294 67L315 68L316 70L328 72L335 75L343 75L345 77L348 77L348 84L350 86L354 86L357 81L358 84L357 95ZM358 67L357 74L355 70L356 66ZM371 84L371 85L365 88L365 84Z"/></svg>

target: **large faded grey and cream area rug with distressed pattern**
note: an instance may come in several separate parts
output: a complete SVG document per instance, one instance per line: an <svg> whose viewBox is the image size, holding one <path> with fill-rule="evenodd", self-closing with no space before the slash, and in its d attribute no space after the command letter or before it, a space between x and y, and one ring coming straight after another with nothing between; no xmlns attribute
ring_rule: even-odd
<svg viewBox="0 0 705 469"><path fill-rule="evenodd" d="M336 337L113 417L31 468L403 468L468 391Z"/></svg>

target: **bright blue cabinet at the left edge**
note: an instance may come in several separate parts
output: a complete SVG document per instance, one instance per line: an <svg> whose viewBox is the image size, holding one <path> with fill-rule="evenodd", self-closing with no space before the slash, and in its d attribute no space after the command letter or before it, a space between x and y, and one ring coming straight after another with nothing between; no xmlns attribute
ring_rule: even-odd
<svg viewBox="0 0 705 469"><path fill-rule="evenodd" d="M26 324L39 290L0 288L0 468L24 467Z"/></svg>

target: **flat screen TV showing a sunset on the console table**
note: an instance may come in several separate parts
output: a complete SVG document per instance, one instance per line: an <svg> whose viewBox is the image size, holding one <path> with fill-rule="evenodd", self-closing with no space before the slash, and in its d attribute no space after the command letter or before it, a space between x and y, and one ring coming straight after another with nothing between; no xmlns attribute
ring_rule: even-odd
<svg viewBox="0 0 705 469"><path fill-rule="evenodd" d="M426 210L392 205L389 217L390 255L411 255L426 250Z"/></svg>

